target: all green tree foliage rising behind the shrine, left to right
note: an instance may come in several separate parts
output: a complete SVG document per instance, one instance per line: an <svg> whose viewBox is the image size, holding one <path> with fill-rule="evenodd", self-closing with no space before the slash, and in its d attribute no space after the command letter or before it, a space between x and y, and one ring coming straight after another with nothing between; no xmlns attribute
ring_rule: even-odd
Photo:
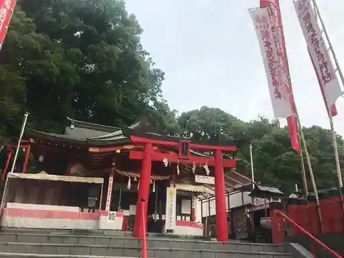
<svg viewBox="0 0 344 258"><path fill-rule="evenodd" d="M154 127L197 142L244 138L254 147L257 180L286 191L301 186L299 155L279 121L244 122L209 107L180 116L171 110L161 97L164 72L143 49L141 33L120 0L18 0L0 52L0 141L18 135L25 111L29 127L52 132L62 131L66 116L114 126L147 116ZM330 132L304 131L318 186L333 186ZM344 160L340 136L338 145ZM247 144L237 160L249 175Z"/></svg>

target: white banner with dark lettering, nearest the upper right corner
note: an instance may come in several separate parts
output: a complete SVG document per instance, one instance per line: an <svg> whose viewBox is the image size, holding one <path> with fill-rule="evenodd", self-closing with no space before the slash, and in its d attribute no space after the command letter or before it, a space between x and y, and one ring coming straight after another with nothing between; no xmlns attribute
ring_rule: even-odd
<svg viewBox="0 0 344 258"><path fill-rule="evenodd" d="M294 8L297 12L303 36L305 36L305 41L310 52L310 58L316 69L315 72L321 84L321 92L323 92L328 109L343 94L341 86L339 85L330 54L327 51L319 23L316 21L310 1L294 1Z"/></svg>

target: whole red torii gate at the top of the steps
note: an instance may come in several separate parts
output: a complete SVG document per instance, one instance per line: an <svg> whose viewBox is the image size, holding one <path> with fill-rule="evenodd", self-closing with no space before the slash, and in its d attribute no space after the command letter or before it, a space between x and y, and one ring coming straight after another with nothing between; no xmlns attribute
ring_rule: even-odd
<svg viewBox="0 0 344 258"><path fill-rule="evenodd" d="M135 160L142 160L140 186L138 190L138 203L142 198L148 200L149 197L149 179L151 177L151 162L161 161L163 158L169 158L171 162L180 162L184 164L193 164L193 162L208 163L215 168L215 206L216 206L216 228L217 241L228 241L227 228L227 212L226 212L226 196L224 185L224 167L235 167L235 160L223 159L223 152L233 152L237 150L236 146L213 146L204 144L193 144L189 140L178 141L164 141L153 140L149 138L142 138L138 136L129 136L131 142L140 143L144 145L143 151L130 151L129 158ZM179 153L159 153L153 149L154 145L178 147ZM214 151L214 158L196 157L190 155L190 149L202 149L207 151ZM143 217L147 218L147 202L144 202ZM143 233L142 224L142 209L136 209L135 224L133 229L133 237L140 237Z"/></svg>

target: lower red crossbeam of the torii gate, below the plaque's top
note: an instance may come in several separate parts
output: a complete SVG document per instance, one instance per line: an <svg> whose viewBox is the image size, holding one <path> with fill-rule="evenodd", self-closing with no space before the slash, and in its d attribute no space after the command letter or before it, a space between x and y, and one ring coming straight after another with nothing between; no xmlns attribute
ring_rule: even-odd
<svg viewBox="0 0 344 258"><path fill-rule="evenodd" d="M132 160L142 160L143 152L142 151L130 151L129 158ZM208 162L208 166L215 166L214 158L206 158L206 157L195 157L191 156L189 160L180 159L177 153L158 153L153 152L151 154L151 158L154 161L161 161L163 158L168 158L171 162L176 163L180 162L181 164L206 164ZM226 168L233 168L235 167L235 160L223 160L223 166Z"/></svg>

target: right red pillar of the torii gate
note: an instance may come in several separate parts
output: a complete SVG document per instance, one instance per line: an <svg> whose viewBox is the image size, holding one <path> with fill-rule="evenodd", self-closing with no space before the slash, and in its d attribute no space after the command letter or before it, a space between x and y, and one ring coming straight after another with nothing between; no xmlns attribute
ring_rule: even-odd
<svg viewBox="0 0 344 258"><path fill-rule="evenodd" d="M215 151L215 206L217 241L228 241L226 196L224 189L224 166L222 151Z"/></svg>

